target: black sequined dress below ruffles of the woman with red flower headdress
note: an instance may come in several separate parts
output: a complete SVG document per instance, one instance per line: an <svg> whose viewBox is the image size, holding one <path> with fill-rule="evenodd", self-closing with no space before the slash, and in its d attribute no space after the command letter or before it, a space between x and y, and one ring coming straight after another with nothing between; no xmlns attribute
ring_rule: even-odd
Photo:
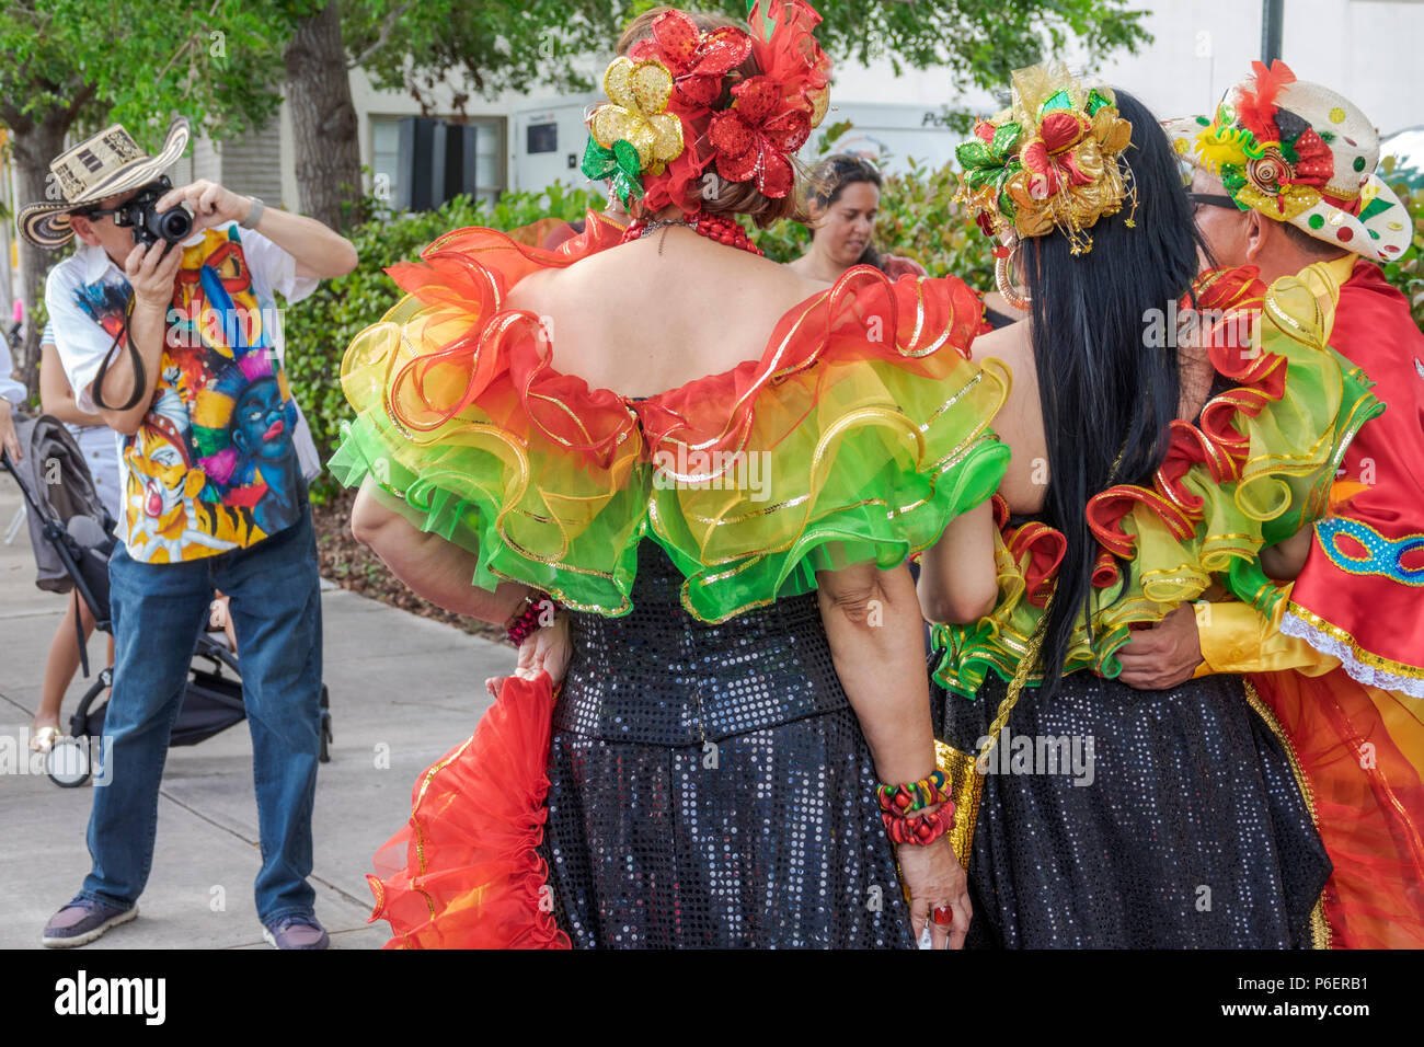
<svg viewBox="0 0 1424 1047"><path fill-rule="evenodd" d="M692 618L661 550L571 614L543 853L578 947L911 947L815 594Z"/></svg>

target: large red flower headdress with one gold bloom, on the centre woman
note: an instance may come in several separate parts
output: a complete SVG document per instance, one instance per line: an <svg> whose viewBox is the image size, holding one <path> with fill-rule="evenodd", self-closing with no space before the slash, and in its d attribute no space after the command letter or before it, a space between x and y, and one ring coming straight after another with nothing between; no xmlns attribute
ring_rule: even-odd
<svg viewBox="0 0 1424 1047"><path fill-rule="evenodd" d="M604 73L608 103L588 117L584 174L652 211L698 211L712 171L785 198L795 185L789 155L826 115L830 60L812 36L819 21L805 0L753 1L750 33L702 33L682 11L659 16L652 37ZM760 74L743 78L749 57Z"/></svg>

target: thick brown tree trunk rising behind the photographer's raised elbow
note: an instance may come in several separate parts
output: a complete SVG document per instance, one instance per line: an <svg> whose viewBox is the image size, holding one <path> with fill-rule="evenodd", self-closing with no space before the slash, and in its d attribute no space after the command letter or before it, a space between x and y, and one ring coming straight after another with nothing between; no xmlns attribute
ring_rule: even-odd
<svg viewBox="0 0 1424 1047"><path fill-rule="evenodd" d="M356 217L362 184L339 0L298 23L283 58L302 212L342 229Z"/></svg>

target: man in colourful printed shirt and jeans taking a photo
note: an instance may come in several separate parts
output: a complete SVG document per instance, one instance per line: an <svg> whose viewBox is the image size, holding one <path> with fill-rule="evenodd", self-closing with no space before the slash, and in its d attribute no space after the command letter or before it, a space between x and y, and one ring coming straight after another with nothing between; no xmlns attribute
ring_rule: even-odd
<svg viewBox="0 0 1424 1047"><path fill-rule="evenodd" d="M231 597L252 731L262 869L256 910L281 949L325 949L313 913L312 805L322 675L315 449L282 366L273 293L288 302L356 266L310 218L212 182L171 188L188 142L157 157L114 125L58 157L61 202L20 211L43 248L77 236L46 303L81 410L121 434L121 544L110 561L112 781L94 789L93 870L44 944L77 946L131 920L148 879L168 732L215 588Z"/></svg>

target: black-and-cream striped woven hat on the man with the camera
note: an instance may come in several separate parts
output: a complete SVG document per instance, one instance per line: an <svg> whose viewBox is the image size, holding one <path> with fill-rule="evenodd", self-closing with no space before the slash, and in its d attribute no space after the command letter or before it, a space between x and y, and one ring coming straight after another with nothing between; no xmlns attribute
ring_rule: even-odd
<svg viewBox="0 0 1424 1047"><path fill-rule="evenodd" d="M122 124L107 127L81 141L50 164L60 201L20 208L16 218L20 235L38 248L64 246L74 235L70 214L158 178L182 155L188 147L188 120L174 120L157 157L145 155Z"/></svg>

